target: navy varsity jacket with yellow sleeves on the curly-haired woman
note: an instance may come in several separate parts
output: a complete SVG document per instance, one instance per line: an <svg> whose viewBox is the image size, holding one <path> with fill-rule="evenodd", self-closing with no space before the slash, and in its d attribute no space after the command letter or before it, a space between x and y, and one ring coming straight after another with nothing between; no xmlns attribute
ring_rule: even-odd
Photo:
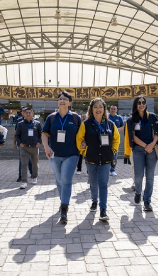
<svg viewBox="0 0 158 276"><path fill-rule="evenodd" d="M87 163L103 165L112 162L114 153L118 151L120 143L120 134L116 125L111 121L104 121L105 133L109 136L109 146L101 146L99 128L92 120L86 120L81 123L80 129L76 135L77 148L85 156ZM86 141L86 149L81 149L80 145Z"/></svg>

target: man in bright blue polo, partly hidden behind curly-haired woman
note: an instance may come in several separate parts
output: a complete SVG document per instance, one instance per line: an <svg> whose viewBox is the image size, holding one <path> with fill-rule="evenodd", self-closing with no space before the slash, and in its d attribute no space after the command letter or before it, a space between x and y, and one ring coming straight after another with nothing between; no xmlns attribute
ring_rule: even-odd
<svg viewBox="0 0 158 276"><path fill-rule="evenodd" d="M114 124L117 126L117 129L119 131L123 131L124 130L124 123L122 120L122 117L117 115L117 106L116 105L111 105L110 107L110 113L109 113L109 119L111 121L114 122ZM115 153L115 168L116 168L116 164L117 164L117 156L118 156L118 152ZM114 168L110 168L110 175L112 176L117 176L117 173L115 172Z"/></svg>

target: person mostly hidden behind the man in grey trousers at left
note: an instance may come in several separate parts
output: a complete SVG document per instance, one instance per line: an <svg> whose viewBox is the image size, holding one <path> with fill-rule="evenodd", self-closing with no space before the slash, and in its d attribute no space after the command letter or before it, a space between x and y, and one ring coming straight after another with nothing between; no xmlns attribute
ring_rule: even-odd
<svg viewBox="0 0 158 276"><path fill-rule="evenodd" d="M23 119L24 119L24 110L25 110L25 106L23 106L21 108L21 116L17 119L16 121L16 125L15 125L15 133L16 133L16 129L17 129L17 124L19 122L21 122ZM14 142L13 142L13 147L14 147L14 150L17 150L17 145L16 145L16 139L15 139L15 133L14 133ZM20 147L18 146L18 149L19 149L19 177L17 178L17 182L20 182L22 181L22 178L21 178L21 157L20 157ZM31 157L29 158L29 171L30 171L30 174L31 174L31 177L32 177L32 162L31 162Z"/></svg>

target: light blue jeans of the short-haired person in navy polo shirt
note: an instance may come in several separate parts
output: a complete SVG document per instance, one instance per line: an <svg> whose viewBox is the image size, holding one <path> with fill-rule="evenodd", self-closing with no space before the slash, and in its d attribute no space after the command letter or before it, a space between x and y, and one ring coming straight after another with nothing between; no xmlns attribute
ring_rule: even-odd
<svg viewBox="0 0 158 276"><path fill-rule="evenodd" d="M54 171L61 204L69 204L72 190L72 178L77 166L78 156L57 157L49 159Z"/></svg>

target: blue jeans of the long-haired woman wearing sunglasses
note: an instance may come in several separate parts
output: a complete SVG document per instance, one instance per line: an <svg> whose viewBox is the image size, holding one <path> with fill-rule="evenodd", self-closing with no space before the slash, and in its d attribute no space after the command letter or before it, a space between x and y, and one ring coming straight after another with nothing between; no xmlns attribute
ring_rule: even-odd
<svg viewBox="0 0 158 276"><path fill-rule="evenodd" d="M153 191L154 171L157 162L155 150L147 153L143 147L135 146L133 149L134 171L135 171L135 185L136 194L142 192L142 182L144 177L144 170L146 176L145 190L143 201L151 202L151 195Z"/></svg>

